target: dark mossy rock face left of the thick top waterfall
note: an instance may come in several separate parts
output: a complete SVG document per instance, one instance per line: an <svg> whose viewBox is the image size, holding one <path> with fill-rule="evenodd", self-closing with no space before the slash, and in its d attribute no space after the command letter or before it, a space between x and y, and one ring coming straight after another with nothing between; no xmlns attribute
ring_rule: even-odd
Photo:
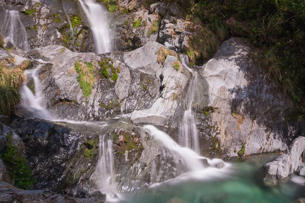
<svg viewBox="0 0 305 203"><path fill-rule="evenodd" d="M18 48L26 50L26 40L28 48L57 44L75 51L94 49L92 33L79 2L0 1L0 7L1 33ZM13 10L16 12L10 14ZM10 36L13 27L7 23L14 23L16 28L13 39Z"/></svg>

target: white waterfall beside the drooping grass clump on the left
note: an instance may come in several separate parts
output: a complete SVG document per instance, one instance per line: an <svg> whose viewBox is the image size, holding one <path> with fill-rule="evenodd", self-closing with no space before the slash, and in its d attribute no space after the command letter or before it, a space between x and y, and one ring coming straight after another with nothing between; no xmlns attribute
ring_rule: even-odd
<svg viewBox="0 0 305 203"><path fill-rule="evenodd" d="M43 63L47 63L42 60L38 60L40 64L33 70L25 70L24 74L27 78L32 78L35 84L35 94L29 89L26 84L20 89L20 93L23 97L23 102L21 107L27 112L31 113L34 117L46 120L53 120L54 117L45 109L43 90L41 88L41 83L38 77L38 71L41 69Z"/></svg>

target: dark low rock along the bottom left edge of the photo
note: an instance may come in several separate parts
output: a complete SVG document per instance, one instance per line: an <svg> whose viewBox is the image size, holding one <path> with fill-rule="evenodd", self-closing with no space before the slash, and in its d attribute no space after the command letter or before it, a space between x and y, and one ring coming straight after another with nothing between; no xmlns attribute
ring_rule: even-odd
<svg viewBox="0 0 305 203"><path fill-rule="evenodd" d="M1 202L54 202L54 203L103 203L95 198L77 199L66 195L56 194L50 190L22 190L13 185L0 181Z"/></svg>

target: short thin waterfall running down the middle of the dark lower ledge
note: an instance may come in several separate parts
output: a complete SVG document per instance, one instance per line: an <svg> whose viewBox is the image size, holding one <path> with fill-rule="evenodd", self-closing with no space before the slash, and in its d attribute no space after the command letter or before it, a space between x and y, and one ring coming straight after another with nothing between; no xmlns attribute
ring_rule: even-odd
<svg viewBox="0 0 305 203"><path fill-rule="evenodd" d="M113 194L116 191L113 170L112 140L106 140L105 135L100 136L99 160L96 167L96 184L102 193Z"/></svg>

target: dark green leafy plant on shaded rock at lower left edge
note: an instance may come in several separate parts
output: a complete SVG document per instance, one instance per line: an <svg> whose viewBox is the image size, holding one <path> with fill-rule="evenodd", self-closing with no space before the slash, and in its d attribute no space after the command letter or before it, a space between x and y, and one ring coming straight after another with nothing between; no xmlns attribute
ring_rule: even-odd
<svg viewBox="0 0 305 203"><path fill-rule="evenodd" d="M1 159L7 167L7 173L14 180L16 187L29 190L36 180L32 176L27 160L12 145L12 134L7 135L7 140L8 143L1 154Z"/></svg>

